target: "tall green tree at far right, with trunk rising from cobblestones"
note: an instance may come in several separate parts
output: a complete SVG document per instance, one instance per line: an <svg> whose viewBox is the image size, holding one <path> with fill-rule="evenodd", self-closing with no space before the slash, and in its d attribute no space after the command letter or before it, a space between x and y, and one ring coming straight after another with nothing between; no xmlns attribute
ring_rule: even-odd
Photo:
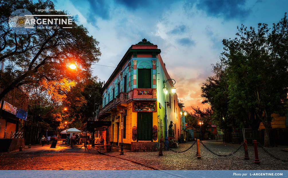
<svg viewBox="0 0 288 178"><path fill-rule="evenodd" d="M265 126L264 145L269 146L271 114L287 110L287 16L274 24L258 24L257 30L238 27L235 39L224 39L221 62L228 76L229 107L241 106Z"/></svg>

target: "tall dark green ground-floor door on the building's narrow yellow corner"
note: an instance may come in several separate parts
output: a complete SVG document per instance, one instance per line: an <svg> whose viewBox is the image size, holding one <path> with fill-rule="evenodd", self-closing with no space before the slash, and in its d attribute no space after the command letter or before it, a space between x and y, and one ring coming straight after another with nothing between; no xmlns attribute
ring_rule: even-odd
<svg viewBox="0 0 288 178"><path fill-rule="evenodd" d="M152 140L152 113L137 113L137 139Z"/></svg>

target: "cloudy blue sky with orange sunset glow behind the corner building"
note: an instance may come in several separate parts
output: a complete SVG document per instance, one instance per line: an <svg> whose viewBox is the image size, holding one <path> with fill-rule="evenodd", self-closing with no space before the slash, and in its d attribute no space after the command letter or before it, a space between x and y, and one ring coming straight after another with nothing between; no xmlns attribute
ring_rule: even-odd
<svg viewBox="0 0 288 178"><path fill-rule="evenodd" d="M204 109L201 86L241 24L272 27L288 11L286 0L52 0L75 16L97 41L102 55L93 75L107 81L131 45L143 38L161 49L178 99L187 111ZM105 67L105 66L110 67Z"/></svg>

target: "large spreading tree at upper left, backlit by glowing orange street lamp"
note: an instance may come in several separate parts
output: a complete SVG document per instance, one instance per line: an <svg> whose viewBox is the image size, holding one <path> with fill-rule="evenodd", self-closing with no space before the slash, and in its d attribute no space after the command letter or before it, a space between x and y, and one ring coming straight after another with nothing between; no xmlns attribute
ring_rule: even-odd
<svg viewBox="0 0 288 178"><path fill-rule="evenodd" d="M26 9L35 20L54 18L67 19L67 12L44 11L35 9L57 9L52 1L39 0L3 0L0 1L0 62L5 64L1 70L0 100L9 91L22 85L29 85L62 79L81 81L91 74L91 65L99 60L101 52L98 41L88 35L82 25L72 24L35 24L25 34L18 34L9 25L9 19L15 10ZM72 27L72 28L63 28ZM75 70L68 68L69 63L77 65Z"/></svg>

